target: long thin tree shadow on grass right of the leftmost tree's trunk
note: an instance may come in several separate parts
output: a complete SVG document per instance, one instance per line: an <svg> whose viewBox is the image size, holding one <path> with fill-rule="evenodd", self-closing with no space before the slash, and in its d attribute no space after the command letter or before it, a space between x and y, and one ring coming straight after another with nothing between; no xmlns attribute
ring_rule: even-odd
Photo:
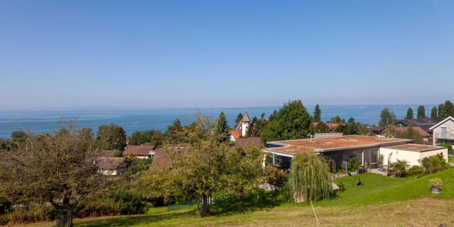
<svg viewBox="0 0 454 227"><path fill-rule="evenodd" d="M109 218L96 218L81 220L75 223L75 226L129 226L129 225L146 225L162 220L173 218L194 217L196 210L188 210L184 212L160 212L156 214L144 215L125 215Z"/></svg>

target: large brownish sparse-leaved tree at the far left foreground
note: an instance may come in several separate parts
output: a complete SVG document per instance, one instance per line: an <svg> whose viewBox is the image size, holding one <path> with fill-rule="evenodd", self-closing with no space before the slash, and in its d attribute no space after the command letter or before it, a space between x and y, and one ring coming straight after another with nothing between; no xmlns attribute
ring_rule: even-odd
<svg viewBox="0 0 454 227"><path fill-rule="evenodd" d="M71 210L104 182L95 166L93 140L69 130L13 143L0 164L0 197L22 205L48 202L66 211L67 221L60 224L72 226Z"/></svg>

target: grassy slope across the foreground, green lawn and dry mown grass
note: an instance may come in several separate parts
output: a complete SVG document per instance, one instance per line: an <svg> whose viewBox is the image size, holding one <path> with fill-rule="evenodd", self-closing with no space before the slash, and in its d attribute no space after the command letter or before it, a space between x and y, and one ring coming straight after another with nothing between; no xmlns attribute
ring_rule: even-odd
<svg viewBox="0 0 454 227"><path fill-rule="evenodd" d="M346 191L331 201L315 203L320 224L326 225L438 225L454 223L454 168L416 180L396 179L375 174L335 179ZM439 195L430 193L428 180L441 178ZM423 198L427 197L427 198ZM416 199L416 200L411 200ZM406 201L404 201L406 200ZM165 207L150 209L147 215L76 219L76 226L168 226L168 225L315 225L307 204L282 203L271 193L248 195L222 205L211 217L199 218L196 206L167 212ZM52 226L52 223L31 226Z"/></svg>

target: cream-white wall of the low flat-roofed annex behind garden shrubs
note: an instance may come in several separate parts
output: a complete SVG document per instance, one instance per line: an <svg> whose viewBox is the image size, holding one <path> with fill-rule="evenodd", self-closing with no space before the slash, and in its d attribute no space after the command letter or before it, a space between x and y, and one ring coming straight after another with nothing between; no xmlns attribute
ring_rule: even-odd
<svg viewBox="0 0 454 227"><path fill-rule="evenodd" d="M437 150L430 150L430 151L409 151L409 150L398 150L392 148L381 147L379 153L384 154L383 164L388 165L388 156L390 153L391 158L390 162L396 161L396 159L405 159L410 162L410 165L420 165L418 159L422 159L424 157L433 156L439 154L440 152L443 153L444 158L447 160L447 148L440 148Z"/></svg>

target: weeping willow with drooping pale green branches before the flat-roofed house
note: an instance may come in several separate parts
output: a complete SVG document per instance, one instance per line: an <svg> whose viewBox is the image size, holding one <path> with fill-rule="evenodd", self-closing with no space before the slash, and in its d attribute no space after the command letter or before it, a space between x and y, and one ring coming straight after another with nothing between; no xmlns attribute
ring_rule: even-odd
<svg viewBox="0 0 454 227"><path fill-rule="evenodd" d="M312 152L297 154L292 158L288 190L292 202L323 200L331 197L330 169L334 162Z"/></svg>

